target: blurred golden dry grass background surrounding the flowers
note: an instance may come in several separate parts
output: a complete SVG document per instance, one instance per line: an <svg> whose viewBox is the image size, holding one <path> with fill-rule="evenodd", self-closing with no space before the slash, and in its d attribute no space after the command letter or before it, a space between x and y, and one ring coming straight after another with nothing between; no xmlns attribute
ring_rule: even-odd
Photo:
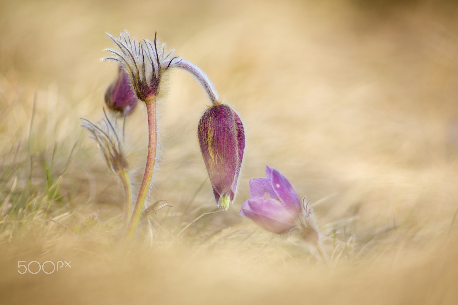
<svg viewBox="0 0 458 305"><path fill-rule="evenodd" d="M1 302L458 302L455 1L0 7ZM122 187L78 127L79 117L100 118L114 79L116 67L99 61L110 45L104 32L124 29L149 38L157 31L206 71L244 121L247 141L234 206L177 237L215 207L196 139L208 103L174 71L163 86L151 192L151 203L167 199L173 208L153 215L128 250L120 246ZM145 117L137 109L126 127L137 183ZM333 271L307 245L237 215L266 164L300 196L326 198L315 210ZM19 260L71 260L72 268L22 275Z"/></svg>

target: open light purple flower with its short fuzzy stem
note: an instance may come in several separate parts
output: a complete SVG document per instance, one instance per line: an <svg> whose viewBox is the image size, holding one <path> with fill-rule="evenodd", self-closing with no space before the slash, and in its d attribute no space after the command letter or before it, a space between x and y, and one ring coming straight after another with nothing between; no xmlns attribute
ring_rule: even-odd
<svg viewBox="0 0 458 305"><path fill-rule="evenodd" d="M250 195L239 215L248 217L267 231L277 234L296 234L310 242L328 267L310 201L302 202L291 183L276 169L266 166L267 178L250 180Z"/></svg>

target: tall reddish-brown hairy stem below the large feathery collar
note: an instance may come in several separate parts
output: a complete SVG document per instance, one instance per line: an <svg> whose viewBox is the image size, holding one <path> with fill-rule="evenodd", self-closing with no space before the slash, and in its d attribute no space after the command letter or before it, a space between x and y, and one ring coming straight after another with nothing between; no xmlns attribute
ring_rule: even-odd
<svg viewBox="0 0 458 305"><path fill-rule="evenodd" d="M156 123L156 96L145 102L148 114L148 155L145 166L145 174L143 174L142 184L135 203L134 212L131 222L127 228L125 241L131 241L137 229L140 216L142 215L143 204L148 193L148 188L153 177L154 163L156 161L156 142L157 142L157 123Z"/></svg>

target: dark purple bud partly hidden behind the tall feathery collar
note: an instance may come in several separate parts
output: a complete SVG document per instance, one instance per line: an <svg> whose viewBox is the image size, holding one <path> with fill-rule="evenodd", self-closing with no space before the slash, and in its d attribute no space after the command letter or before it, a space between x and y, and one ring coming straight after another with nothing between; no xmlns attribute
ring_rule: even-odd
<svg viewBox="0 0 458 305"><path fill-rule="evenodd" d="M109 109L128 115L134 110L137 102L135 92L132 91L131 78L119 65L118 78L105 92L105 103Z"/></svg>

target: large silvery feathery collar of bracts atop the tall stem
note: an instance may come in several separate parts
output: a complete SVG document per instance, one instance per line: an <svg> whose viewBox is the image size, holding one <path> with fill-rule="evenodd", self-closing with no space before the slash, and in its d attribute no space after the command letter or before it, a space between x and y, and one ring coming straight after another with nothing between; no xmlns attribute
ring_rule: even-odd
<svg viewBox="0 0 458 305"><path fill-rule="evenodd" d="M155 100L162 75L174 65L174 61L179 61L177 57L170 58L173 51L165 54L165 44L162 44L158 51L157 35L154 35L153 43L147 39L132 41L128 32L121 33L119 38L107 35L117 48L107 48L106 50L114 56L104 59L114 60L124 67L139 100Z"/></svg>

